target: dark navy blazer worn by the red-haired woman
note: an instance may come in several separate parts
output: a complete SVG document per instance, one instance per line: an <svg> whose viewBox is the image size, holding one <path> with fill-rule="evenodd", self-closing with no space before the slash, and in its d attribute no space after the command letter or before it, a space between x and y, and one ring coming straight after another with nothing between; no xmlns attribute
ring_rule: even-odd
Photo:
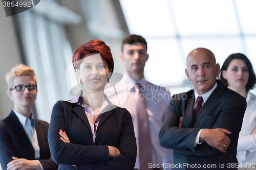
<svg viewBox="0 0 256 170"><path fill-rule="evenodd" d="M123 108L111 107L104 112L96 131L95 144L86 114L77 103L58 101L52 110L48 139L59 169L133 169L136 161L136 139L131 114ZM59 130L66 131L70 143L60 140ZM110 158L108 145L121 155Z"/></svg>

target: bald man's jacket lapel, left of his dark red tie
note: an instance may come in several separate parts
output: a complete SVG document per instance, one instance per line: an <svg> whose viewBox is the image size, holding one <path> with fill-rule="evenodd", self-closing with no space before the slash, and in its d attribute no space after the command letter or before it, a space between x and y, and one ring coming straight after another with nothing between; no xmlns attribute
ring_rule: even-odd
<svg viewBox="0 0 256 170"><path fill-rule="evenodd" d="M185 112L185 117L183 117L183 125L185 128L190 128L193 127L193 110L194 110L194 103L195 103L195 95L194 95L194 90L191 92L192 94L188 94L188 99L186 100L187 102L187 107L186 107L186 112ZM183 127L183 126L182 126Z"/></svg>

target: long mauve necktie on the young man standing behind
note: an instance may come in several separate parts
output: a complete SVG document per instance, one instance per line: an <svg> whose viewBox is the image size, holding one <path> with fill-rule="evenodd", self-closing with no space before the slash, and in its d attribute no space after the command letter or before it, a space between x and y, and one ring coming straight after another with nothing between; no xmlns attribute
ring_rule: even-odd
<svg viewBox="0 0 256 170"><path fill-rule="evenodd" d="M152 158L152 142L150 134L150 124L148 122L148 115L146 112L145 96L141 92L141 85L135 86L135 100L138 122L138 136L139 136L139 169L148 169L148 163L151 163Z"/></svg>

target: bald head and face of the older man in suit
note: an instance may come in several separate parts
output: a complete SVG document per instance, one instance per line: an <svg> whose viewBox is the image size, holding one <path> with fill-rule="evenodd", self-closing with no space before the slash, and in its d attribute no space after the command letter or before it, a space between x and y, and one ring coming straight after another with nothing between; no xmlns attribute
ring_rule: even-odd
<svg viewBox="0 0 256 170"><path fill-rule="evenodd" d="M188 54L187 79L192 82L195 90L200 95L212 89L216 83L216 77L220 74L220 65L216 64L215 56L206 48L197 48Z"/></svg>

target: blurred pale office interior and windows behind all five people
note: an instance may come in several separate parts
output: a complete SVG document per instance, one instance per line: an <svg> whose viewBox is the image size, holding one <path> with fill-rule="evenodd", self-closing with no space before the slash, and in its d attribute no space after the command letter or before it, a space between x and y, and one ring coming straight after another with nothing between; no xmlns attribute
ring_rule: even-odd
<svg viewBox="0 0 256 170"><path fill-rule="evenodd" d="M193 88L186 80L185 58L197 47L211 50L221 66L230 54L243 53L256 68L255 8L254 0L41 0L6 17L1 2L0 119L13 108L5 74L23 63L35 70L38 80L33 112L50 122L56 101L72 98L66 69L73 51L92 39L110 46L114 71L123 73L123 38L143 36L150 55L145 78L172 94Z"/></svg>

